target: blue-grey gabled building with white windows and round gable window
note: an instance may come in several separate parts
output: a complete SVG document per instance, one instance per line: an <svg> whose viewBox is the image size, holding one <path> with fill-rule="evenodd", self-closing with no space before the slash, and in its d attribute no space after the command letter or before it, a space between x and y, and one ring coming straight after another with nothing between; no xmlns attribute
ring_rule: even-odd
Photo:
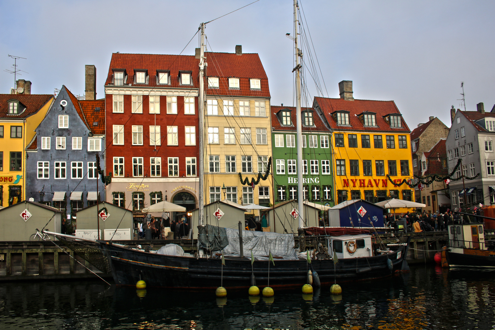
<svg viewBox="0 0 495 330"><path fill-rule="evenodd" d="M95 96L86 91L87 98ZM104 198L96 164L105 147L104 120L104 99L79 100L62 86L26 148L26 199L65 211L71 222L78 210Z"/></svg>

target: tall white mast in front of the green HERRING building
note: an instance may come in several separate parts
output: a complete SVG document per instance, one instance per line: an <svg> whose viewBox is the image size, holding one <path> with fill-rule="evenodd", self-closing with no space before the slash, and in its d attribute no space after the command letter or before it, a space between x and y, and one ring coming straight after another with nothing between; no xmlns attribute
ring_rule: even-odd
<svg viewBox="0 0 495 330"><path fill-rule="evenodd" d="M303 221L303 185L302 185L302 116L301 116L301 80L299 77L299 56L300 50L297 43L297 25L299 21L297 20L297 0L294 0L294 37L296 42L296 67L293 72L296 71L296 126L297 126L297 208L299 210L299 226L298 228L304 227Z"/></svg>

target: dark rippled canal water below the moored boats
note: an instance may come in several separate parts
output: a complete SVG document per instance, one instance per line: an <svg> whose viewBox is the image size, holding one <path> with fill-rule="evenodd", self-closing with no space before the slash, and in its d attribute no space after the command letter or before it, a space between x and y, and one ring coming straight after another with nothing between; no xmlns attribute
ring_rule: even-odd
<svg viewBox="0 0 495 330"><path fill-rule="evenodd" d="M213 292L108 286L98 281L0 283L0 329L482 329L495 330L495 271L433 265L379 281L325 287L312 297L275 290Z"/></svg>

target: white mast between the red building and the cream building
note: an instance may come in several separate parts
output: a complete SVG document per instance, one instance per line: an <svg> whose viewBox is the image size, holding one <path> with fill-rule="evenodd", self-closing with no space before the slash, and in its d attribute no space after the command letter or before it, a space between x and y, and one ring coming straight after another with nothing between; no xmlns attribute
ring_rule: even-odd
<svg viewBox="0 0 495 330"><path fill-rule="evenodd" d="M198 208L199 208L199 225L203 224L203 198L204 198L204 152L203 152L203 115L204 115L204 68L206 61L204 58L204 23L201 23L201 47L199 48L199 193L198 193Z"/></svg>

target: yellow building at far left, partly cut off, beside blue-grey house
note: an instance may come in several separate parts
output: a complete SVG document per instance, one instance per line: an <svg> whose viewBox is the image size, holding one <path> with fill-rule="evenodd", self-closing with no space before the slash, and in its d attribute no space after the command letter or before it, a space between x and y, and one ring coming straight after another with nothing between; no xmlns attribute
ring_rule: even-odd
<svg viewBox="0 0 495 330"><path fill-rule="evenodd" d="M17 85L19 94L0 94L0 206L26 198L26 171L37 169L25 168L25 148L53 102L51 94L26 94L31 91L30 82Z"/></svg>

